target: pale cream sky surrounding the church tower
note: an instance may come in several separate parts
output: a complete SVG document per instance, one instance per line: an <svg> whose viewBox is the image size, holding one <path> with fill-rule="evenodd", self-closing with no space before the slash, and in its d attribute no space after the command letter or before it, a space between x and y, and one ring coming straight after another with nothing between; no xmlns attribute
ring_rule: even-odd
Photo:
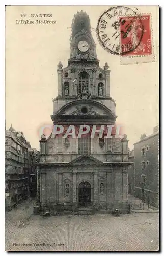
<svg viewBox="0 0 164 256"><path fill-rule="evenodd" d="M67 66L71 23L77 11L90 16L100 67L110 66L110 93L116 101L117 122L124 127L129 147L149 135L158 124L158 16L155 6L140 6L151 13L155 62L121 65L120 57L106 52L96 37L100 15L108 6L7 6L6 7L6 129L23 131L32 147L39 148L39 130L52 125L52 99L58 95L57 65ZM55 24L18 24L35 20L31 14L52 14ZM28 17L29 16L29 17Z"/></svg>

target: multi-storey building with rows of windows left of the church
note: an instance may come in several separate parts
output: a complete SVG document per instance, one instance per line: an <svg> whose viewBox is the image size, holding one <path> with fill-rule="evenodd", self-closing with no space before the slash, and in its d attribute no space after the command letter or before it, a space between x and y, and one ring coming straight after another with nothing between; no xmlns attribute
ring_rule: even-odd
<svg viewBox="0 0 164 256"><path fill-rule="evenodd" d="M5 131L6 209L10 209L21 200L27 199L31 189L34 190L31 187L31 177L32 179L33 175L36 177L36 168L29 150L32 150L31 145L30 142L26 141L23 132L16 132L11 125L10 129Z"/></svg>

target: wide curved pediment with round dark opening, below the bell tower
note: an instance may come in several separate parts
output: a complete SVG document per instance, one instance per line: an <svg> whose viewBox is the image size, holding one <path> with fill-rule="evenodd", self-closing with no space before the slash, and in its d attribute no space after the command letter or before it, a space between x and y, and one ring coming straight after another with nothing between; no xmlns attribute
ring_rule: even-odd
<svg viewBox="0 0 164 256"><path fill-rule="evenodd" d="M102 103L94 100L75 100L64 105L56 112L57 116L111 116L115 114Z"/></svg>

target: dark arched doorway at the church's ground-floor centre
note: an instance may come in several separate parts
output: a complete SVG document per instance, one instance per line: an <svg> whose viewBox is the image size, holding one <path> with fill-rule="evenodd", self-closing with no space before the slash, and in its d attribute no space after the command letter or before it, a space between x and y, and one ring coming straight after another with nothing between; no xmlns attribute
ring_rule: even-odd
<svg viewBox="0 0 164 256"><path fill-rule="evenodd" d="M78 202L81 206L88 206L91 202L91 185L87 181L78 186Z"/></svg>

